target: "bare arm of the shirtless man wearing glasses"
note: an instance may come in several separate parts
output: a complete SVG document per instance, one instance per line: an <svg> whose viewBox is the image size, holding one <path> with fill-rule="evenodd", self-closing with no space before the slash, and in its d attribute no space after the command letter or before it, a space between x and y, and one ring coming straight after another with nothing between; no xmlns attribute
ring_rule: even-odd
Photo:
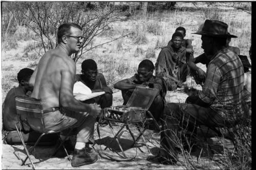
<svg viewBox="0 0 256 170"><path fill-rule="evenodd" d="M72 111L88 112L90 115L98 115L101 109L97 105L84 104L74 98L75 69L74 63L62 63L59 104Z"/></svg>

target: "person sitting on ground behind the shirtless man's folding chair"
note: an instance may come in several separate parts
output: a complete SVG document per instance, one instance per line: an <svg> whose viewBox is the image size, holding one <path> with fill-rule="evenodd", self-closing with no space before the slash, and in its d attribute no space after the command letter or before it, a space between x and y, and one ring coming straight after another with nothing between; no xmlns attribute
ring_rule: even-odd
<svg viewBox="0 0 256 170"><path fill-rule="evenodd" d="M7 93L5 101L2 106L2 118L3 118L3 128L4 131L4 142L7 144L21 144L18 133L16 131L15 124L17 123L17 112L15 105L15 96L30 96L31 89L29 87L29 79L33 74L33 70L30 68L23 68L17 74L18 87L13 87ZM40 133L33 131L27 124L22 123L20 131L24 136L25 142L33 143L36 142ZM56 141L56 135L48 135L42 138L41 143L54 143Z"/></svg>

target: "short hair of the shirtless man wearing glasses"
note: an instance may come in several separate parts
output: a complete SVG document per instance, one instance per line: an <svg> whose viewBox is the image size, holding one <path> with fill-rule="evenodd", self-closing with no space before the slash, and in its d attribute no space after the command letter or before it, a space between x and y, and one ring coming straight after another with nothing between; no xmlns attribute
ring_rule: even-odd
<svg viewBox="0 0 256 170"><path fill-rule="evenodd" d="M63 35L71 34L70 33L71 27L78 28L78 29L82 30L82 28L79 25L77 25L76 23L68 22L68 23L61 24L58 28L58 33L57 33L58 43L61 42L61 37Z"/></svg>

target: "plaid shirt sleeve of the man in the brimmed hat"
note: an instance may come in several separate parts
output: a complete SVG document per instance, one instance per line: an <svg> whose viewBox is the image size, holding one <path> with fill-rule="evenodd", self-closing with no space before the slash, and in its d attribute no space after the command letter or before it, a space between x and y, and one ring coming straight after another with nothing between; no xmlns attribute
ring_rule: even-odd
<svg viewBox="0 0 256 170"><path fill-rule="evenodd" d="M219 68L211 63L206 72L206 79L203 90L199 93L199 98L208 104L211 104L217 96L217 89L220 84L221 72Z"/></svg>

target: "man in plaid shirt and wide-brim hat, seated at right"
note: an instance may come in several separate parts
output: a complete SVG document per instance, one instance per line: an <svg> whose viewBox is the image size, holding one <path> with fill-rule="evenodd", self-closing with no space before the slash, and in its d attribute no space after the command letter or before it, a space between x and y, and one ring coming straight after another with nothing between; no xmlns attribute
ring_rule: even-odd
<svg viewBox="0 0 256 170"><path fill-rule="evenodd" d="M231 129L243 115L242 93L244 70L239 57L225 47L229 35L228 25L218 20L205 20L201 31L202 48L206 55L212 56L206 71L203 90L194 97L193 103L168 103L164 109L165 125L161 132L161 152L150 160L166 164L178 161L176 132L186 128L187 140L183 148L190 151L195 144L197 125L205 125L217 133L218 129ZM187 124L188 123L188 124ZM181 127L183 125L185 127ZM233 139L233 136L226 136ZM191 140L190 140L191 139ZM194 142L193 142L194 141ZM192 148L193 149L193 148Z"/></svg>

